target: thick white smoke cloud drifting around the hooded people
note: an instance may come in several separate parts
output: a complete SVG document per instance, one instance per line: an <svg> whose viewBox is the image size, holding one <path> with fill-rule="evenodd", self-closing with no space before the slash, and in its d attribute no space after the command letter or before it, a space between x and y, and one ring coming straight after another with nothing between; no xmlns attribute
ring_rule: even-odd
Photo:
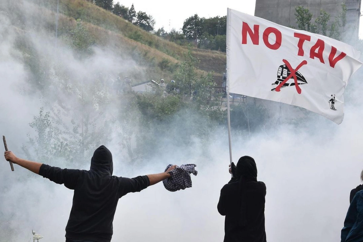
<svg viewBox="0 0 363 242"><path fill-rule="evenodd" d="M26 82L29 70L15 48L14 31L9 19L0 16L0 131L7 136L9 148L20 156L21 145L28 141L26 134L33 134L29 127L33 116L44 103L52 103L55 95L63 94L19 91L32 89ZM40 56L52 63L57 61L75 79L101 71L116 75L136 65L101 48L95 48L91 58L81 61L61 43L54 52L54 38L46 33L34 30L28 36ZM362 85L358 78L359 73L348 85L346 116L339 126L311 114L313 118L304 119L307 122L304 125L283 124L275 130L254 133L250 138L233 132L234 162L243 155L254 157L258 180L267 186L268 241L339 241L349 193L360 183L363 168ZM116 108L121 107L111 106L104 111L110 114ZM289 119L290 112L286 108L285 120ZM180 122L178 118L172 122L176 130ZM183 135L182 132L163 134L158 144L150 144L158 153L133 165L127 162L127 152L118 145L118 132L114 129L110 134L112 141L105 144L113 153L114 175L135 177L159 173L168 164L183 163L197 164L199 173L192 176L192 188L172 193L160 183L122 197L115 214L113 241L223 241L224 217L219 215L216 206L220 189L230 178L226 129L213 128L210 139L194 137L187 147L171 142L175 135ZM49 160L48 164L89 168L88 160L79 164ZM11 231L12 241L29 240L32 229L44 236L42 242L65 241L64 229L72 206L71 190L17 165L15 172L11 172L7 161L1 165L0 177L0 231Z"/></svg>

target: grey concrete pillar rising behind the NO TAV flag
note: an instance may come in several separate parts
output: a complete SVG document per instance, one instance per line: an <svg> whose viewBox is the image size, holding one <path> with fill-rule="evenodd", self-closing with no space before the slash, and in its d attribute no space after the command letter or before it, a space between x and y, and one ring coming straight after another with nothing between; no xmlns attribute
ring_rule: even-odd
<svg viewBox="0 0 363 242"><path fill-rule="evenodd" d="M295 7L309 8L315 19L320 15L320 9L330 14L330 22L342 12L341 4L347 6L347 25L344 36L347 39L358 38L361 0L256 0L254 15L284 26L297 26Z"/></svg>

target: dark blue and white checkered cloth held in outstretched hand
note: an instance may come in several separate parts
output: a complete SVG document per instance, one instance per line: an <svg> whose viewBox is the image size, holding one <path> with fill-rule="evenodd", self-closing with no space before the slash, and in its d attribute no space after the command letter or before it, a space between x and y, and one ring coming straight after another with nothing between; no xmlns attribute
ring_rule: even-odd
<svg viewBox="0 0 363 242"><path fill-rule="evenodd" d="M165 168L165 171L171 167L172 164L168 165ZM170 192L176 192L180 189L185 189L188 187L192 187L192 179L190 178L190 173L193 173L194 176L198 174L198 172L194 169L197 165L195 164L183 164L180 167L176 166L174 170L170 171L170 178L163 180L164 187Z"/></svg>

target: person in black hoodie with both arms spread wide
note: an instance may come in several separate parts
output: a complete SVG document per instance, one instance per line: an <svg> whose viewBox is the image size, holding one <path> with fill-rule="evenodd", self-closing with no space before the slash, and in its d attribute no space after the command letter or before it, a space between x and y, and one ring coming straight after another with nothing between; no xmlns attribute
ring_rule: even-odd
<svg viewBox="0 0 363 242"><path fill-rule="evenodd" d="M89 171L61 169L28 161L5 151L5 159L57 184L74 190L73 204L66 226L66 242L110 242L118 199L129 192L140 192L170 177L166 172L135 178L112 176L112 154L104 145L92 156Z"/></svg>

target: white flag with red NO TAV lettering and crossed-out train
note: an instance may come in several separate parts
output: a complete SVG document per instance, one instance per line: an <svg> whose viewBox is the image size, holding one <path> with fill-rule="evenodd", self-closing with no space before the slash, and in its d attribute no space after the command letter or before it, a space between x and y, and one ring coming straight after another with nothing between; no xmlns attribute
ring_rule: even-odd
<svg viewBox="0 0 363 242"><path fill-rule="evenodd" d="M344 88L362 66L359 57L338 40L228 9L230 93L303 107L340 124Z"/></svg>

